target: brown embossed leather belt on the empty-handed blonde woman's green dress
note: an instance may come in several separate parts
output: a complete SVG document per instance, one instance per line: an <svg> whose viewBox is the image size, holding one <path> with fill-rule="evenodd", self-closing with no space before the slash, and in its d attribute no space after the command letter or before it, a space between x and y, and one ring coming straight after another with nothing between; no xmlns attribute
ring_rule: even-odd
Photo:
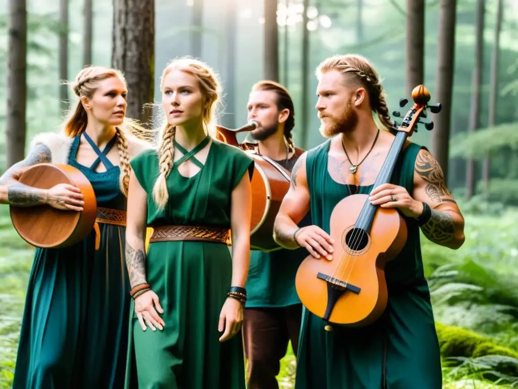
<svg viewBox="0 0 518 389"><path fill-rule="evenodd" d="M231 231L223 227L162 226L153 227L149 243L168 241L204 241L231 245Z"/></svg>

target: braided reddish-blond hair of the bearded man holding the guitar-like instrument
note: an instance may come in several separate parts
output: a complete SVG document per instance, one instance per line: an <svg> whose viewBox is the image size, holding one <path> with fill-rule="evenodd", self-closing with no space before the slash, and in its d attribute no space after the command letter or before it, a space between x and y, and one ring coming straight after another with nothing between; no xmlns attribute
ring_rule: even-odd
<svg viewBox="0 0 518 389"><path fill-rule="evenodd" d="M357 54L333 55L325 59L316 68L315 73L318 77L331 70L338 70L344 75L353 76L367 91L370 107L373 112L376 112L383 126L387 129L393 126L394 123L389 113L385 92L378 73L366 58Z"/></svg>

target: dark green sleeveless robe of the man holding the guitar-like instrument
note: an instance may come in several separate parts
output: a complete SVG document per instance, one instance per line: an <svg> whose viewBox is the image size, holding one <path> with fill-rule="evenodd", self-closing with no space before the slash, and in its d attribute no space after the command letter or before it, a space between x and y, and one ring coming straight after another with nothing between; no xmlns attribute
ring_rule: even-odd
<svg viewBox="0 0 518 389"><path fill-rule="evenodd" d="M333 207L348 195L327 170L330 140L307 154L313 223L329 233ZM415 158L410 143L398 160L392 183L412 193ZM368 194L372 186L360 187ZM428 285L415 220L405 218L408 240L385 267L389 302L380 319L363 328L334 326L304 309L295 389L440 389L441 364Z"/></svg>

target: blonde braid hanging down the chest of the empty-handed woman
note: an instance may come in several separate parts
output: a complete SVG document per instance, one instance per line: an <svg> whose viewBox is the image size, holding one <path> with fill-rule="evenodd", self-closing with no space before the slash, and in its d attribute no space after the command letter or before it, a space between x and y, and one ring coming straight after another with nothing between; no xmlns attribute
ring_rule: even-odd
<svg viewBox="0 0 518 389"><path fill-rule="evenodd" d="M169 199L167 191L167 176L172 170L175 157L175 135L176 127L167 124L163 132L162 144L159 150L160 175L153 187L153 198L159 209L163 210Z"/></svg>

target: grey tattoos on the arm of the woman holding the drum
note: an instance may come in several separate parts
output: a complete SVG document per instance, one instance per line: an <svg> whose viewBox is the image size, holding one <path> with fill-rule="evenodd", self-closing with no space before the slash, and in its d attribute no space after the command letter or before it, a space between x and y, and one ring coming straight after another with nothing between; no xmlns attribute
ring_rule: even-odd
<svg viewBox="0 0 518 389"><path fill-rule="evenodd" d="M29 166L52 162L51 152L45 145L37 145L30 154L18 163L13 164L2 177L0 185L7 187L7 201L11 205L32 206L45 203L42 190L18 182L18 178Z"/></svg>

